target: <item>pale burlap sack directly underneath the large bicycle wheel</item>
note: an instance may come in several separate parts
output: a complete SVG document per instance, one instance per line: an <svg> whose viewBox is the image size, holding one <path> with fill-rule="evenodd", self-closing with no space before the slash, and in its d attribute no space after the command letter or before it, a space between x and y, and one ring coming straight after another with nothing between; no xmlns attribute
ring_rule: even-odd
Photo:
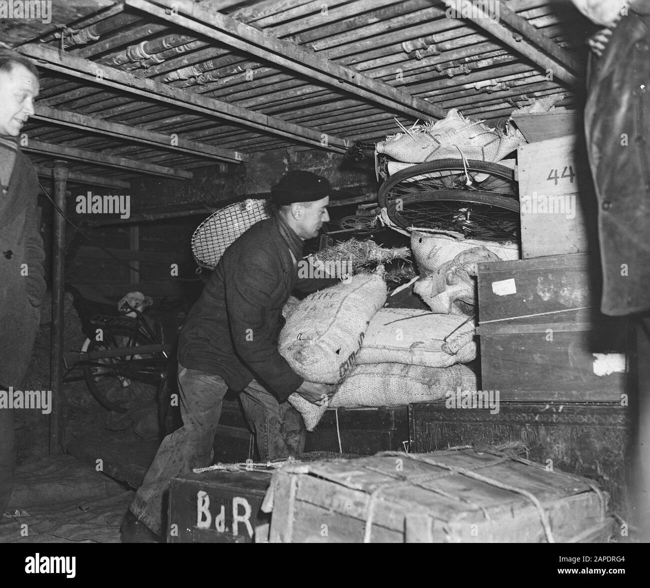
<svg viewBox="0 0 650 588"><path fill-rule="evenodd" d="M497 243L479 239L456 239L451 235L411 232L411 250L421 274L431 274L458 254L474 247L486 247L502 261L519 259L517 243Z"/></svg>

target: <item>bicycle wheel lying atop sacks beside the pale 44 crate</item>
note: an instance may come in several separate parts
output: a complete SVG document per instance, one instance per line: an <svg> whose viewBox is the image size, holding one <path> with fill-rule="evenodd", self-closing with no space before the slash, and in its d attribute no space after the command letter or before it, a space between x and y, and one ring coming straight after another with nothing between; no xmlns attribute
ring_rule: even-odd
<svg viewBox="0 0 650 588"><path fill-rule="evenodd" d="M487 161L440 159L387 178L379 204L401 228L460 232L487 241L519 240L519 198L512 169Z"/></svg>

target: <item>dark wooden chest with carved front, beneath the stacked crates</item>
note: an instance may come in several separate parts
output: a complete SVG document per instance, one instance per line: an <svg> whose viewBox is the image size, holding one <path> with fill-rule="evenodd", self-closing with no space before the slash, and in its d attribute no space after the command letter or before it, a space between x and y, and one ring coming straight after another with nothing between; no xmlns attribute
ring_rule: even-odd
<svg viewBox="0 0 650 588"><path fill-rule="evenodd" d="M502 402L499 412L447 408L445 403L409 406L411 451L455 446L512 446L547 467L596 481L612 499L612 509L629 515L632 414L618 405Z"/></svg>

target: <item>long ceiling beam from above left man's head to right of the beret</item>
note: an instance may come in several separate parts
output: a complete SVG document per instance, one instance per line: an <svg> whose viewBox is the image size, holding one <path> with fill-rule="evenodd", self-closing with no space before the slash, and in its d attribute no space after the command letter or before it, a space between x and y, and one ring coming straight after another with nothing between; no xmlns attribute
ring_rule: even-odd
<svg viewBox="0 0 650 588"><path fill-rule="evenodd" d="M192 113L214 116L257 129L257 131L263 133L279 135L330 151L343 153L348 149L346 141L340 137L323 135L316 129L292 124L280 118L266 116L266 114L257 113L226 101L208 98L188 90L181 90L152 79L135 77L132 73L111 68L88 59L74 57L52 47L28 44L19 47L19 51L34 60L36 66L64 73L65 75L72 75L82 83L87 82L116 88L127 94L136 94L149 100L192 111Z"/></svg>

